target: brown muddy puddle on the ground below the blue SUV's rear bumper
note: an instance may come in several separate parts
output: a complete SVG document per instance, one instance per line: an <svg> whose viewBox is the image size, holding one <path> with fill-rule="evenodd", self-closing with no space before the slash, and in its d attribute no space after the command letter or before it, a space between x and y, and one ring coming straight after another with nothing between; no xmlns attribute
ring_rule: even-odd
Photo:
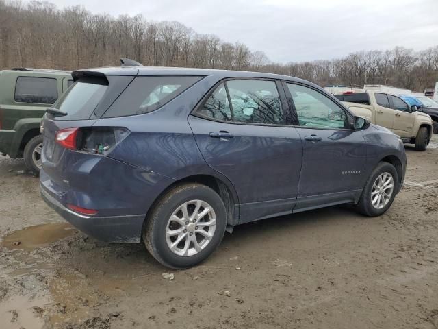
<svg viewBox="0 0 438 329"><path fill-rule="evenodd" d="M29 226L3 236L1 246L12 250L21 249L30 252L38 247L46 247L49 243L72 236L75 232L77 230L69 223Z"/></svg>

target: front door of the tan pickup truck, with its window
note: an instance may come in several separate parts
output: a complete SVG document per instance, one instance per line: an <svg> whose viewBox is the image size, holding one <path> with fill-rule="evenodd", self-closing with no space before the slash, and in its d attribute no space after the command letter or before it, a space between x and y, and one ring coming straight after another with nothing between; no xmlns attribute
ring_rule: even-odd
<svg viewBox="0 0 438 329"><path fill-rule="evenodd" d="M401 137L413 137L414 114L411 113L409 105L400 97L388 95L391 108L394 109L394 128L395 134Z"/></svg>

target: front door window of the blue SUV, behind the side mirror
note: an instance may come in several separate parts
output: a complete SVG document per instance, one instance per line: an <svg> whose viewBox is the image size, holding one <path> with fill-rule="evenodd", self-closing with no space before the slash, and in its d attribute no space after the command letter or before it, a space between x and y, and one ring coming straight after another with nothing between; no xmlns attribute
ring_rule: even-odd
<svg viewBox="0 0 438 329"><path fill-rule="evenodd" d="M298 84L287 84L302 127L343 129L348 127L346 112L318 91Z"/></svg>

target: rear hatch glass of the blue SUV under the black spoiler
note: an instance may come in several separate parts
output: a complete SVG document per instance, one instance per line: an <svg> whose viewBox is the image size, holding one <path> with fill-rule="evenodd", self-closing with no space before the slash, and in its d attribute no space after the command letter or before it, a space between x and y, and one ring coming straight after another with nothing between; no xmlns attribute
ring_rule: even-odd
<svg viewBox="0 0 438 329"><path fill-rule="evenodd" d="M77 80L71 88L53 105L67 113L56 117L57 120L85 120L101 101L108 88L106 79L99 77L83 77Z"/></svg>

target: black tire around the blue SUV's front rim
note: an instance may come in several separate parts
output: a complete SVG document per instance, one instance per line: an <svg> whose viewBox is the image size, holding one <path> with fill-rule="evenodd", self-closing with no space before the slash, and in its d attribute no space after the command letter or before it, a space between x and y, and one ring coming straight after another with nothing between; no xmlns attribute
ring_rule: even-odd
<svg viewBox="0 0 438 329"><path fill-rule="evenodd" d="M385 203L385 205L383 205L382 203L379 205L381 206L381 208L377 208L376 206L374 206L372 202L372 193L376 191L375 189L373 189L373 187L375 183L376 185L378 185L377 182L378 178L382 177L382 175L385 175L385 173L391 175L392 178L393 186L391 190L391 195L389 196L389 198L387 198L387 202ZM365 216L375 217L382 215L384 212L386 212L386 210L388 210L388 208L391 206L392 202L394 201L394 197L396 197L396 192L398 191L399 184L400 183L398 180L398 174L396 168L394 168L394 166L388 162L380 162L377 165L377 167L374 169L374 171L372 171L370 178L368 178L367 182L365 183L365 186L362 191L362 195L355 208ZM387 184L386 186L389 185L390 184ZM383 185L383 188L385 188L386 186ZM385 189L385 192L388 193L388 188ZM378 194L379 193L376 193L374 194L374 196Z"/></svg>

